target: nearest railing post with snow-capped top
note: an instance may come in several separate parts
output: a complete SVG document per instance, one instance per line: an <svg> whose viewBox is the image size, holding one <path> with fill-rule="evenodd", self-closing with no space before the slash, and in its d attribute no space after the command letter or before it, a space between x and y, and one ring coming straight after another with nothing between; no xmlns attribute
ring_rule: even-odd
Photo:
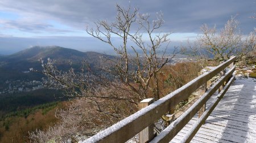
<svg viewBox="0 0 256 143"><path fill-rule="evenodd" d="M143 99L141 102L139 102L139 110L147 107L153 102L154 98ZM141 132L139 132L139 142L149 142L154 138L154 136L154 124L151 124L147 128L144 128Z"/></svg>

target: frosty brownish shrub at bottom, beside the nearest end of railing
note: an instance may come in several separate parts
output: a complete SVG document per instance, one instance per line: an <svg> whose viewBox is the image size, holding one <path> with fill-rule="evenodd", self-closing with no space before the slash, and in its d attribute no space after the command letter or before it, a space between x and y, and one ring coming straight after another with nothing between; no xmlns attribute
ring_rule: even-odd
<svg viewBox="0 0 256 143"><path fill-rule="evenodd" d="M43 131L36 129L35 132L29 132L31 142L67 142L68 140L78 142L82 137L92 136L118 121L111 114L96 112L97 106L94 104L85 97L72 100L66 109L56 111L55 115L60 119L59 123ZM102 108L109 109L112 102L100 102L100 104ZM124 112L119 112L125 115Z"/></svg>

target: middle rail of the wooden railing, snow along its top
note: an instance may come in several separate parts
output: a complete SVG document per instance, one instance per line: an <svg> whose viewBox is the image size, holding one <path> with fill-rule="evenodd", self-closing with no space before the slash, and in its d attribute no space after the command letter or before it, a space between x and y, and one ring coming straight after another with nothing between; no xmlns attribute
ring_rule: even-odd
<svg viewBox="0 0 256 143"><path fill-rule="evenodd" d="M232 68L229 72L227 72L224 76L222 76L212 87L210 87L205 94L196 101L194 105L192 105L187 111L184 112L183 115L180 116L179 119L172 122L163 132L161 132L158 136L156 136L151 143L153 142L169 142L174 138L174 136L189 122L189 120L196 114L196 112L200 109L201 106L208 101L210 96L213 95L214 92L224 83L224 81L232 75L235 67Z"/></svg>

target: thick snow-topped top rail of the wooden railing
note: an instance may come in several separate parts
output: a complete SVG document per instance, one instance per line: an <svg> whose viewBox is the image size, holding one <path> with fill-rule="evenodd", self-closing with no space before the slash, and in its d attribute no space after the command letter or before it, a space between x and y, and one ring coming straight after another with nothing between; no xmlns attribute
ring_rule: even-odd
<svg viewBox="0 0 256 143"><path fill-rule="evenodd" d="M192 92L232 64L235 59L236 57L230 58L213 70L205 72L203 75L196 77L196 79L190 81L181 88L160 98L158 101L151 103L151 105L135 112L133 115L121 120L104 131L98 132L87 140L80 142L126 142L137 135L137 133L141 132L144 128L154 123L162 115L170 111L170 109L173 109L179 102L187 99ZM233 70L232 72L226 73L227 76L225 76L224 79L226 79L226 77L228 78L228 75L230 76L232 73ZM222 84L223 83L220 83L220 85ZM208 93L208 91L205 92L205 94Z"/></svg>

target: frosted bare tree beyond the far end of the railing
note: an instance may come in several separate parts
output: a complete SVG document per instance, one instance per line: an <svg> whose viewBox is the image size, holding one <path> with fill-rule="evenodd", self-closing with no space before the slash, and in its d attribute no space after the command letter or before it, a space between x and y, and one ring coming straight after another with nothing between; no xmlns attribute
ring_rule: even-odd
<svg viewBox="0 0 256 143"><path fill-rule="evenodd" d="M214 59L224 60L224 58L229 58L241 46L242 34L239 24L232 17L220 32L217 32L216 26L209 28L207 24L202 25L201 31L203 33L199 34L198 38L201 48L212 54Z"/></svg>

